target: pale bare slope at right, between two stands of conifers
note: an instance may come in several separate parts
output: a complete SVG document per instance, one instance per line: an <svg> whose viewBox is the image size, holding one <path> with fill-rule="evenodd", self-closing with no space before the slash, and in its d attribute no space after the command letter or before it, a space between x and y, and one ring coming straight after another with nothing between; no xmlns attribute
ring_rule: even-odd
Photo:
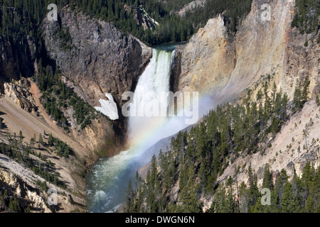
<svg viewBox="0 0 320 227"><path fill-rule="evenodd" d="M272 142L272 147L267 148L265 153L244 155L239 157L225 170L219 179L228 177L235 173L236 167L243 167L245 163L251 163L252 170L257 173L258 184L262 184L263 169L269 164L274 171L282 168L287 171L289 177L294 177L294 172L301 177L306 162L310 162L314 168L320 165L320 118L319 106L314 99L306 102L302 111L297 112L282 127ZM308 135L304 135L304 130ZM245 168L241 169L238 175L239 182L246 181Z"/></svg>

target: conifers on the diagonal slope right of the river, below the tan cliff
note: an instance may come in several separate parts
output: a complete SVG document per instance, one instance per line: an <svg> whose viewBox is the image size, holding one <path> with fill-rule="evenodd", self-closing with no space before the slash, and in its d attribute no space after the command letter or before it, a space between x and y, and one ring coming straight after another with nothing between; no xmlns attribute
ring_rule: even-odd
<svg viewBox="0 0 320 227"><path fill-rule="evenodd" d="M155 156L152 158L146 181L137 176L136 187L133 189L129 184L124 211L200 212L203 206L199 200L201 196L213 195L215 200L211 211L260 211L261 208L255 207L260 193L257 189L257 177L251 166L247 170L245 165L242 167L242 171L245 170L249 175L250 186L247 189L245 184L240 185L240 193L246 199L241 210L235 201L235 192L230 186L234 179L225 179L225 188L219 187L221 182L217 179L239 155L265 153L271 146L270 140L277 135L282 124L297 111L297 108L301 109L306 101L307 89L304 87L309 83L306 79L301 84L305 84L297 87L297 93L300 94L297 100L299 99L301 106L297 106L295 102L288 102L287 95L282 94L281 89L277 92L275 84L272 86L271 94L268 93L270 85L265 82L263 91L258 92L255 100L249 98L249 90L247 97L242 100L242 105L218 106L188 133L179 132L176 138L171 138L171 150L168 153L160 151L158 160ZM314 177L313 174L311 176ZM265 172L263 184L273 188L270 177L270 173ZM281 177L284 178L284 175L280 175ZM284 182L281 183L282 186L278 184L280 183L274 186L275 190L282 187ZM289 190L288 185L286 187ZM177 186L179 191L176 191ZM171 192L173 189L175 191ZM304 189L299 192L303 193ZM173 200L172 194L177 194L178 199ZM284 198L286 196L291 195L284 194ZM282 207L281 202L280 199L277 206Z"/></svg>

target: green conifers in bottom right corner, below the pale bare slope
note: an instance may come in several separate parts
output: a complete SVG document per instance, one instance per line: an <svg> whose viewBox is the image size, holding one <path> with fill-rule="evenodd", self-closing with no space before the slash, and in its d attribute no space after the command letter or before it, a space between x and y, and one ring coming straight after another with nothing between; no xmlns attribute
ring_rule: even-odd
<svg viewBox="0 0 320 227"><path fill-rule="evenodd" d="M210 208L211 212L221 213L319 213L320 211L320 168L314 170L310 163L304 166L302 177L294 175L289 180L287 172L282 170L273 183L269 166L265 166L262 188L270 189L270 205L261 201L265 194L259 192L257 179L248 170L249 186L242 182L239 187L239 200L235 199L230 184L219 187Z"/></svg>

